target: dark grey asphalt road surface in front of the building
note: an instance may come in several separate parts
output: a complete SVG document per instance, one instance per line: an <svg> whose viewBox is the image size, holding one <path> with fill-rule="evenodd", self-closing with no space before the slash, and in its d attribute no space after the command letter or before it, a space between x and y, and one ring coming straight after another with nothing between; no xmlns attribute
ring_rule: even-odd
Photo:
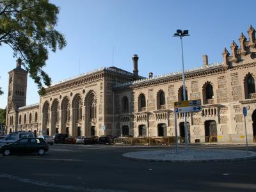
<svg viewBox="0 0 256 192"><path fill-rule="evenodd" d="M244 146L189 147L245 150ZM159 163L122 159L125 152L159 148L168 147L56 144L44 156L0 155L0 191L256 191L256 160ZM250 150L256 151L256 146Z"/></svg>

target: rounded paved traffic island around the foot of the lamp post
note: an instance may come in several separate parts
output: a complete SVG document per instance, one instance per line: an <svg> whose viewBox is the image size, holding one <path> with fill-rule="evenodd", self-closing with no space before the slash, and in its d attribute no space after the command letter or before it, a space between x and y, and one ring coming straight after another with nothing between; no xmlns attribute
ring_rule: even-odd
<svg viewBox="0 0 256 192"><path fill-rule="evenodd" d="M256 152L244 150L200 150L188 149L179 150L150 150L140 152L129 152L122 155L127 159L141 160L141 161L159 161L172 163L207 163L207 162L232 162L232 161L246 161L256 159Z"/></svg>

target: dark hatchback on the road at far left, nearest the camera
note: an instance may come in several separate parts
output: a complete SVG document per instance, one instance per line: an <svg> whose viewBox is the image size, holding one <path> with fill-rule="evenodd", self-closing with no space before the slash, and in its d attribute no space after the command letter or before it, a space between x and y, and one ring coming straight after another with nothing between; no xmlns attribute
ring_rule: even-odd
<svg viewBox="0 0 256 192"><path fill-rule="evenodd" d="M10 154L37 152L42 156L47 150L49 150L49 147L43 138L21 138L14 143L1 146L0 153L9 156Z"/></svg>

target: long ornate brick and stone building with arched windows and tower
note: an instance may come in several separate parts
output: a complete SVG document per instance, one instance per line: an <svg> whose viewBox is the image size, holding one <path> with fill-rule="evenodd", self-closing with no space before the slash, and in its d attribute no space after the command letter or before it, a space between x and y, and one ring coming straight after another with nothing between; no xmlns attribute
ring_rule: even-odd
<svg viewBox="0 0 256 192"><path fill-rule="evenodd" d="M221 63L208 63L185 71L186 98L202 100L202 111L187 113L190 141L245 141L243 106L248 141L256 136L255 29L248 40L241 34L240 47L225 48ZM103 67L46 88L40 102L26 106L27 72L9 72L7 131L33 131L53 135L175 136L173 102L183 100L182 73L141 77L134 54L133 73ZM179 136L184 136L184 114L177 114ZM106 129L105 129L106 128ZM210 137L210 138L207 138ZM205 139L206 138L206 139ZM254 138L254 140L253 140Z"/></svg>

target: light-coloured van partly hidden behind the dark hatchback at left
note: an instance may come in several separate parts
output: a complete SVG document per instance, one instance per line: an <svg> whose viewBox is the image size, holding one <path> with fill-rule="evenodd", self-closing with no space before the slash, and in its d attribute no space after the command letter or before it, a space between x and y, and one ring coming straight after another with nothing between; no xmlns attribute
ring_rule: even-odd
<svg viewBox="0 0 256 192"><path fill-rule="evenodd" d="M10 132L6 138L0 140L0 146L6 145L9 143L14 143L15 141L21 139L21 138L35 138L33 132Z"/></svg>

